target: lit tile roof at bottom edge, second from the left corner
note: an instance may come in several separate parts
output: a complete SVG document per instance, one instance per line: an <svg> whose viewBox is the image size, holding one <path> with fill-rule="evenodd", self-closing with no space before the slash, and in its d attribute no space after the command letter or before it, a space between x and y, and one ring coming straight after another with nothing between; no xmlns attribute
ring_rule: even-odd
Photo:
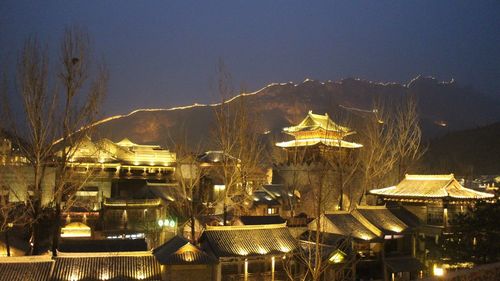
<svg viewBox="0 0 500 281"><path fill-rule="evenodd" d="M151 252L60 254L52 280L160 281L161 269Z"/></svg>

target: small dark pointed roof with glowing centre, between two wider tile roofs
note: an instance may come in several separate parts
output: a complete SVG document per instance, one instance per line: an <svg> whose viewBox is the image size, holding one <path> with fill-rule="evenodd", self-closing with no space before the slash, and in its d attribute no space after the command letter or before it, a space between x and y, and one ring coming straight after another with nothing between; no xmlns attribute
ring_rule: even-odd
<svg viewBox="0 0 500 281"><path fill-rule="evenodd" d="M167 243L154 249L153 255L160 264L166 265L218 263L215 257L210 256L180 236L175 236Z"/></svg>

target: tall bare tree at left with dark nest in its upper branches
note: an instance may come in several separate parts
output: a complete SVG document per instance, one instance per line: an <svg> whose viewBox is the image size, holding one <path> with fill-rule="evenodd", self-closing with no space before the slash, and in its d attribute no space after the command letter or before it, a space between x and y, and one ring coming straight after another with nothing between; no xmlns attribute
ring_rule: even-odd
<svg viewBox="0 0 500 281"><path fill-rule="evenodd" d="M62 85L62 110L59 115L62 128L58 127L60 143L63 144L56 161L56 186L54 189L55 226L52 241L52 253L56 255L61 232L60 216L63 197L71 198L83 187L91 175L75 178L75 173L68 167L70 159L78 151L82 139L91 134L91 124L96 121L108 80L107 71L103 66L98 69L95 80L89 82L90 38L77 27L67 28L60 46L61 69L58 78ZM85 87L88 87L86 89ZM83 131L78 132L83 128ZM68 209L71 204L65 204Z"/></svg>

